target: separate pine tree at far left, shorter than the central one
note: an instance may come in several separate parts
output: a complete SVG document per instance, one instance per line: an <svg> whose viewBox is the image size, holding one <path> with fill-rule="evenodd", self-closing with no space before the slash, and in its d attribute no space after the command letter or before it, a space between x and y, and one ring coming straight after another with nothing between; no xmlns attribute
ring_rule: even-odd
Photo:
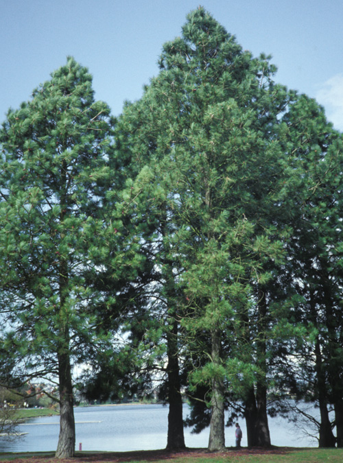
<svg viewBox="0 0 343 463"><path fill-rule="evenodd" d="M23 381L58 383L58 458L75 451L73 366L96 341L91 307L102 295L86 285L86 274L106 250L112 123L88 70L68 58L29 102L8 112L0 132L2 348Z"/></svg>

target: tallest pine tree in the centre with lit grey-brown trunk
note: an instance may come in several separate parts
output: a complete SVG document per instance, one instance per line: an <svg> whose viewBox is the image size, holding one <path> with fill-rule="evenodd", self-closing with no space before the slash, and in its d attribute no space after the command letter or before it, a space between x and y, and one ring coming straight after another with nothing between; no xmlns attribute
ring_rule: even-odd
<svg viewBox="0 0 343 463"><path fill-rule="evenodd" d="M126 133L142 167L146 215L162 206L167 214L164 252L182 295L180 326L188 339L204 332L209 339L201 354L209 361L191 377L211 392L209 449L222 449L225 389L237 375L247 382L265 375L262 364L252 371L255 355L241 327L259 301L254 288L270 278L268 263L282 254L274 217L285 165L274 130L289 96L272 82L268 58L242 51L203 8L165 44L160 67L141 101L124 111ZM234 357L224 358L224 344L235 346L237 335L246 352L232 347Z"/></svg>

